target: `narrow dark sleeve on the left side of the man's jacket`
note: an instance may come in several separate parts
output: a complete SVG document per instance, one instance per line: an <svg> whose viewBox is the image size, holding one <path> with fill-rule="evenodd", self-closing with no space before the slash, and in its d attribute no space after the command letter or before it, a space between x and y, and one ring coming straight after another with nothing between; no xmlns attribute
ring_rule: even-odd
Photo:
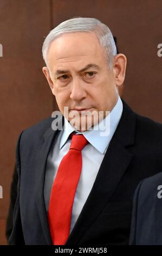
<svg viewBox="0 0 162 256"><path fill-rule="evenodd" d="M18 138L16 146L16 173L18 176L17 181L17 197L13 212L13 226L11 235L9 236L9 245L24 245L24 236L21 223L21 213L20 213L20 176L21 176L21 161L20 161L20 140L21 135Z"/></svg>

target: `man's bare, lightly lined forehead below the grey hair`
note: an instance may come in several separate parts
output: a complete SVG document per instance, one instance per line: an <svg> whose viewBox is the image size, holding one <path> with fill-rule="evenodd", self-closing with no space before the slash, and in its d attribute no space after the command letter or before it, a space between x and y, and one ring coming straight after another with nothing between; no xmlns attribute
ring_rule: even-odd
<svg viewBox="0 0 162 256"><path fill-rule="evenodd" d="M57 65L98 61L105 57L103 48L94 33L75 32L66 33L56 38L48 51L50 67ZM83 62L83 63L82 63Z"/></svg>

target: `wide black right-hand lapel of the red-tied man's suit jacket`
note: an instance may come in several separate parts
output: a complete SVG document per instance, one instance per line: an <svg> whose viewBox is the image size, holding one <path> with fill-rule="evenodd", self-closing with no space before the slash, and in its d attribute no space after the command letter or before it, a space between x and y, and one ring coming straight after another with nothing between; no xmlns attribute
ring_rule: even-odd
<svg viewBox="0 0 162 256"><path fill-rule="evenodd" d="M124 175L133 154L128 146L134 143L135 114L123 101L120 123L106 151L92 190L79 215L66 245L75 245L98 217ZM96 207L97 206L97 207Z"/></svg>

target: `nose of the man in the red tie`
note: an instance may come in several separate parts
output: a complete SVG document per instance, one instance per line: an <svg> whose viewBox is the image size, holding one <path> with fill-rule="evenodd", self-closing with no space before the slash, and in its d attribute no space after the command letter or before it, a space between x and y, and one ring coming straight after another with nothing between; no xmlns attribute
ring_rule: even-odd
<svg viewBox="0 0 162 256"><path fill-rule="evenodd" d="M85 84L80 78L75 78L72 81L72 87L70 92L70 99L74 101L81 101L87 97Z"/></svg>

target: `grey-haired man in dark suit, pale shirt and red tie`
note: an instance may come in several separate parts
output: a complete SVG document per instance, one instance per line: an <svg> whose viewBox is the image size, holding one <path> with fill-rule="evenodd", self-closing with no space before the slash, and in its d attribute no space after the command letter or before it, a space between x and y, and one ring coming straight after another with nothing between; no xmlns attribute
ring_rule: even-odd
<svg viewBox="0 0 162 256"><path fill-rule="evenodd" d="M135 187L161 170L162 127L120 99L126 56L99 20L62 22L42 51L61 115L18 138L9 244L128 244Z"/></svg>

